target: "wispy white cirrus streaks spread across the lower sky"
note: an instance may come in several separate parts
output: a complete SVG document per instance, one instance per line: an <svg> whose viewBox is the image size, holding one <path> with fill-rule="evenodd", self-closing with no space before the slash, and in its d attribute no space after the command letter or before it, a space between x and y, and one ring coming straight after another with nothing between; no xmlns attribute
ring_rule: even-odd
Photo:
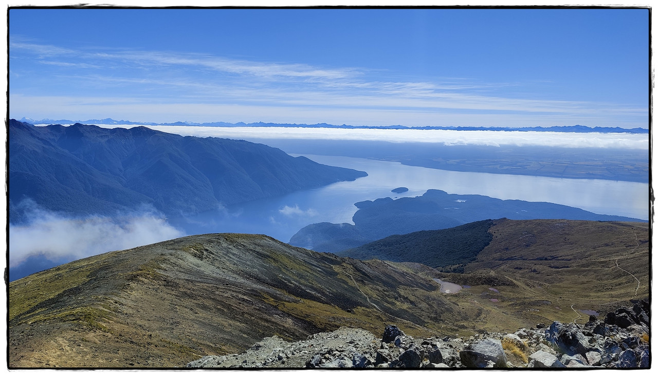
<svg viewBox="0 0 658 375"><path fill-rule="evenodd" d="M388 72L257 62L201 53L80 48L10 43L11 58L53 66L51 87L12 66L11 116L54 117L27 102L60 97L68 111L98 110L101 116L131 118L127 102L142 108L143 121L279 121L363 125L621 125L642 126L647 108L609 102L527 99L507 94L520 82L496 83L451 77L438 80L382 79ZM14 68L17 66L17 68ZM18 78L20 77L20 78ZM26 82L23 84L23 82ZM29 83L32 83L30 85ZM535 83L533 83L535 84ZM107 98L95 100L98 93ZM43 93L48 93L44 95ZM77 99L71 99L75 98ZM68 99L67 99L68 98ZM175 100L175 101L172 101ZM47 107L51 105L45 104ZM170 106L173 110L149 108ZM36 109L39 108L39 109ZM195 110L193 108L201 108ZM56 110L56 109L55 109ZM175 118L162 118L163 113ZM280 114L287 115L281 116ZM205 117L199 118L199 114ZM260 118L251 117L257 113ZM247 114L249 118L237 118ZM20 115L20 116L19 116ZM78 116L67 116L85 118ZM212 116L212 117L211 117ZM324 116L324 117L323 117ZM311 120L309 121L309 118ZM334 120L335 119L335 120ZM470 119L470 120L469 120ZM366 122L363 122L366 121Z"/></svg>

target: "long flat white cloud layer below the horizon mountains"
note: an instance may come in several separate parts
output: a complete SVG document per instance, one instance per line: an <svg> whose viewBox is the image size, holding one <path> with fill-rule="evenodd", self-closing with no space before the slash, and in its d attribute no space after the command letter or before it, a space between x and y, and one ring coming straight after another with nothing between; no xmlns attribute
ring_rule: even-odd
<svg viewBox="0 0 658 375"><path fill-rule="evenodd" d="M133 127L136 125L99 125ZM394 143L470 144L478 146L555 146L568 148L649 149L649 135L630 133L561 133L552 131L468 131L420 129L331 129L304 127L205 127L146 125L151 129L195 137L230 139L324 139Z"/></svg>

